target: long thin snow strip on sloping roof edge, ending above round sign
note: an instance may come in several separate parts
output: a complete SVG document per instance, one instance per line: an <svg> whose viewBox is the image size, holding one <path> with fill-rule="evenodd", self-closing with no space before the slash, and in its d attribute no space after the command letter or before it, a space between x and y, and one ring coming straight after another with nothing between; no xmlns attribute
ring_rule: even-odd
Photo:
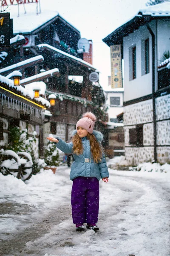
<svg viewBox="0 0 170 256"><path fill-rule="evenodd" d="M88 63L86 61L83 61L81 58L77 58L77 57L75 57L75 56L73 56L71 54L68 54L67 52L63 52L63 51L61 51L61 50L59 50L59 49L57 49L57 48L55 48L55 47L53 47L53 46L51 46L49 44L38 44L37 47L51 49L51 50L53 50L55 52L58 52L58 53L60 53L62 55L65 55L68 58L74 59L75 61L78 61L78 62L84 64L85 66L91 67L94 70L96 70L96 68L94 68L93 65L91 65L90 63Z"/></svg>

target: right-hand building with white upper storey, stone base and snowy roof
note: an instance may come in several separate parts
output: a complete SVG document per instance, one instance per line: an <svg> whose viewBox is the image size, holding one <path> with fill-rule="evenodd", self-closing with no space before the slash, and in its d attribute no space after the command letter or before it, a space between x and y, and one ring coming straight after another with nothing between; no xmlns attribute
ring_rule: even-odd
<svg viewBox="0 0 170 256"><path fill-rule="evenodd" d="M170 162L170 1L139 10L103 41L121 45L128 165ZM161 63L160 63L161 62Z"/></svg>

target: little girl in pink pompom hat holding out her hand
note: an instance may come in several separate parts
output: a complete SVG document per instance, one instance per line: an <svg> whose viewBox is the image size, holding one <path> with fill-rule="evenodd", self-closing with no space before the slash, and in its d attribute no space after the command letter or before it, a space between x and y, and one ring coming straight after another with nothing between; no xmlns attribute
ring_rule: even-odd
<svg viewBox="0 0 170 256"><path fill-rule="evenodd" d="M71 205L73 223L76 230L99 230L96 223L99 214L99 180L102 177L108 182L108 167L105 154L102 151L103 135L94 131L96 116L87 112L83 114L76 125L72 142L65 143L59 137L47 139L66 154L73 154L74 162L71 165L70 179L73 181L71 191Z"/></svg>

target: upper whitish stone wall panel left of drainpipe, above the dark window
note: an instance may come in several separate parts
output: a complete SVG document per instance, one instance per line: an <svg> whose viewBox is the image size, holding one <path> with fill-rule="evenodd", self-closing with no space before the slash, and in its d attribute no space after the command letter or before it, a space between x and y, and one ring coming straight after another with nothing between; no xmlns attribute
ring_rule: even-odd
<svg viewBox="0 0 170 256"><path fill-rule="evenodd" d="M124 125L136 125L153 122L152 100L147 100L124 107Z"/></svg>

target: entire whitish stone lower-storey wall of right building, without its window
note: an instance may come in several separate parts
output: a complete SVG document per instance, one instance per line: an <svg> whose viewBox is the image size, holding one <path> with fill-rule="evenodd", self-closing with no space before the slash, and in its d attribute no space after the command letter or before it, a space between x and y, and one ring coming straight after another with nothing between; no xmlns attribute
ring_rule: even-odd
<svg viewBox="0 0 170 256"><path fill-rule="evenodd" d="M157 160L170 162L170 95L156 98L156 145ZM143 145L129 145L129 129L143 125ZM153 160L153 105L152 99L124 107L125 157L128 164ZM127 125L127 126L126 126Z"/></svg>

